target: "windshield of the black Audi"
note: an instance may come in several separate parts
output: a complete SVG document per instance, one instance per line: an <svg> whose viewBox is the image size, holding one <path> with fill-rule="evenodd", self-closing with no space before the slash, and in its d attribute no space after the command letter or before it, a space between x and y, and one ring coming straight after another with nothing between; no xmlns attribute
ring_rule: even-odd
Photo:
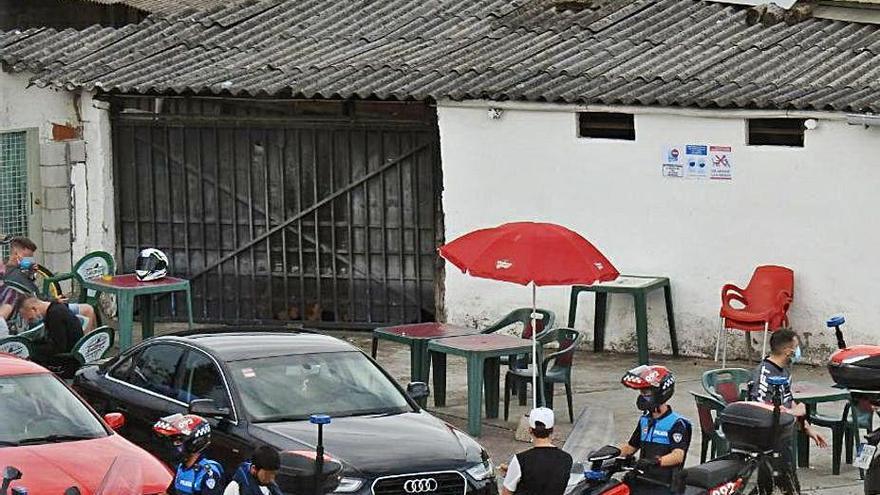
<svg viewBox="0 0 880 495"><path fill-rule="evenodd" d="M229 366L244 407L256 422L411 410L400 390L356 351L250 359Z"/></svg>

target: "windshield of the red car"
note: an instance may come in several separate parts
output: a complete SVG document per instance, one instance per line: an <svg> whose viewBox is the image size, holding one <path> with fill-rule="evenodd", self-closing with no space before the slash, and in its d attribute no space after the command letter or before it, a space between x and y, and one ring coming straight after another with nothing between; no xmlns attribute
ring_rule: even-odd
<svg viewBox="0 0 880 495"><path fill-rule="evenodd" d="M107 436L54 375L0 376L0 448Z"/></svg>

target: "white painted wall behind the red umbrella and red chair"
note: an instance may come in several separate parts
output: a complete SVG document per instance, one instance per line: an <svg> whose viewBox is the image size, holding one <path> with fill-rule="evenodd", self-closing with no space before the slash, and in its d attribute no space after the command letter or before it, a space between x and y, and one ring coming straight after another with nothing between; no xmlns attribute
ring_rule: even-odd
<svg viewBox="0 0 880 495"><path fill-rule="evenodd" d="M880 129L813 114L819 127L804 148L751 147L748 112L629 109L646 113L636 115L636 141L625 142L577 138L573 107L512 105L490 120L487 106L438 105L447 240L517 220L577 230L622 273L671 278L688 354L714 351L721 286L745 286L770 263L795 270L790 317L814 356L834 344L824 321L835 313L846 315L853 342L880 340ZM662 177L663 146L691 142L733 145L733 180ZM529 305L530 293L447 263L451 322L485 323ZM566 288L539 288L538 299L566 322ZM651 347L668 352L662 292L648 302ZM631 300L612 296L609 311L606 342L633 350ZM592 314L582 295L575 326L591 336Z"/></svg>

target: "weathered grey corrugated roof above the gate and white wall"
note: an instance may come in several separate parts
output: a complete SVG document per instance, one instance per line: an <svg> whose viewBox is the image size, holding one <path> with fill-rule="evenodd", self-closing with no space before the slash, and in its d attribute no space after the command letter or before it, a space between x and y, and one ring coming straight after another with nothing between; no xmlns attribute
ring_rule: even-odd
<svg viewBox="0 0 880 495"><path fill-rule="evenodd" d="M880 112L878 26L705 0L263 0L0 33L39 86Z"/></svg>

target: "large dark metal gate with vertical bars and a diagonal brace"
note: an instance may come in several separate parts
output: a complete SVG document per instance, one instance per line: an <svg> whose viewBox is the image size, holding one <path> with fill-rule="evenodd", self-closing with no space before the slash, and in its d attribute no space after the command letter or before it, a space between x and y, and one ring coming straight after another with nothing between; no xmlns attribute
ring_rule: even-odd
<svg viewBox="0 0 880 495"><path fill-rule="evenodd" d="M194 98L114 107L122 265L131 270L143 247L165 251L172 273L192 279L197 319L433 320L443 229L431 108Z"/></svg>

